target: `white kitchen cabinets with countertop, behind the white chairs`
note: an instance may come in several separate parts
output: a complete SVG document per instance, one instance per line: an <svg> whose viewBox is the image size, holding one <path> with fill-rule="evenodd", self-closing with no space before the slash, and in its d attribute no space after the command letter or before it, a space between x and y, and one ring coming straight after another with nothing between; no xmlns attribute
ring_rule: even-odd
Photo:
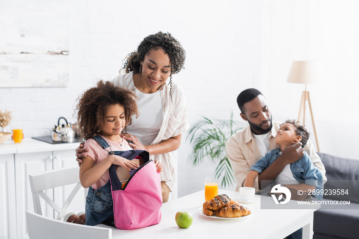
<svg viewBox="0 0 359 239"><path fill-rule="evenodd" d="M78 143L48 144L32 138L25 138L21 144L0 145L0 169L2 170L0 199L0 238L29 238L27 234L25 211L33 209L32 193L29 183L29 174L37 174L52 169L78 167L75 161L75 148ZM48 190L47 195L55 203L64 202L65 195L70 189L61 187ZM79 193L78 193L79 194ZM72 208L75 213L85 211L84 193L76 195ZM43 214L54 218L54 211L42 205Z"/></svg>

